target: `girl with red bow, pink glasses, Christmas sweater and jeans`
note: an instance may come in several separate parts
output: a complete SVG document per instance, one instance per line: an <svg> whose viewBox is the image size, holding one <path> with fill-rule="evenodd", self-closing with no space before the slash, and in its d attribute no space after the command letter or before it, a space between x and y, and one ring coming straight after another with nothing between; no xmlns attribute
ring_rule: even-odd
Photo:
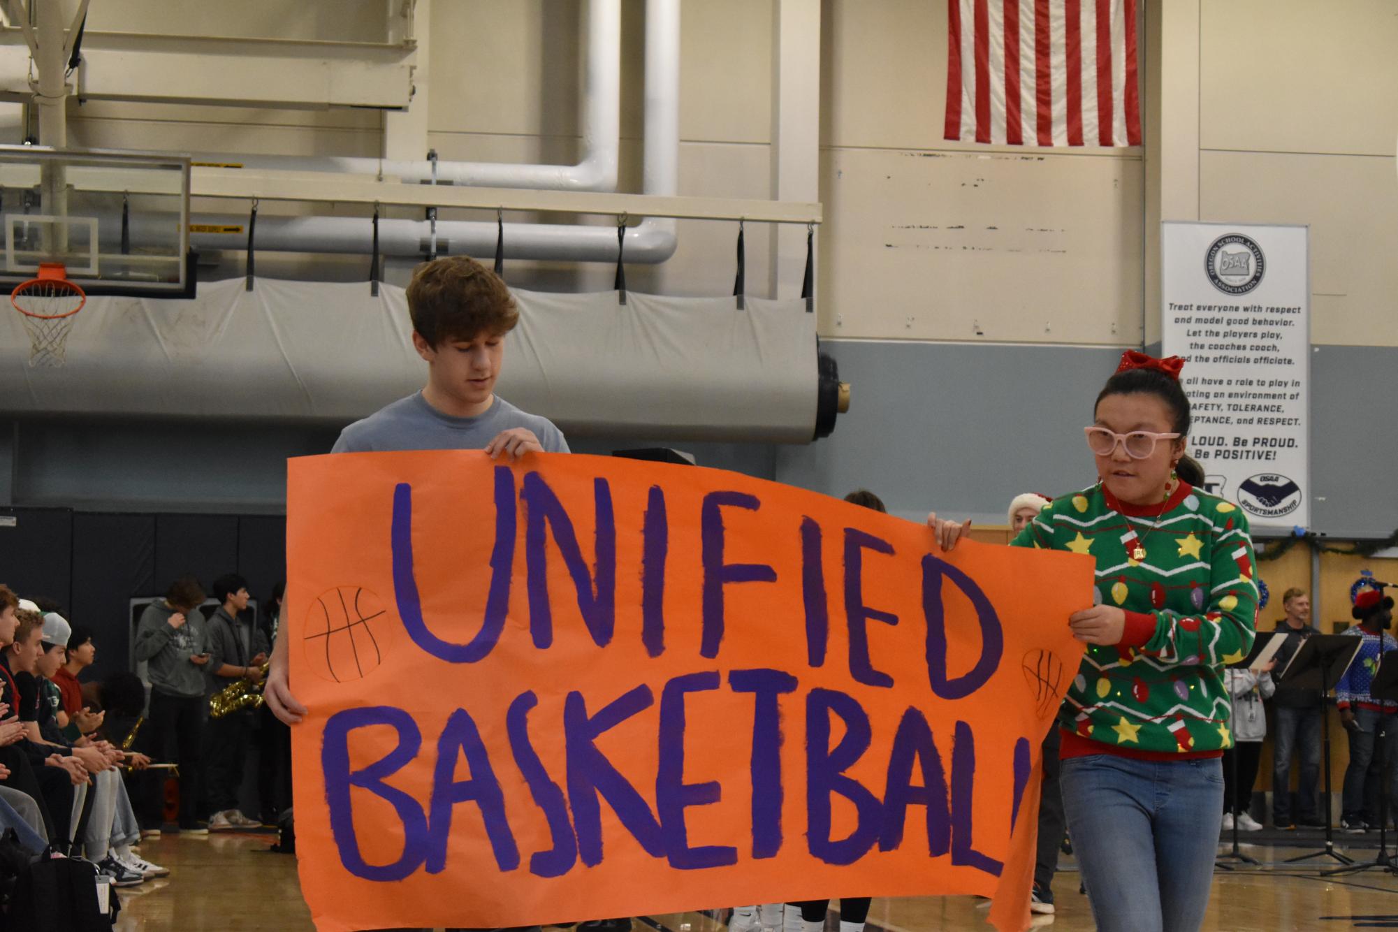
<svg viewBox="0 0 1398 932"><path fill-rule="evenodd" d="M1233 743L1223 665L1253 644L1247 518L1197 488L1183 362L1123 354L1086 428L1097 483L1046 506L1012 542L1096 560L1096 585L1067 619L1088 651L1058 725L1068 830L1103 932L1199 928L1219 757ZM928 524L946 549L960 535L935 514Z"/></svg>

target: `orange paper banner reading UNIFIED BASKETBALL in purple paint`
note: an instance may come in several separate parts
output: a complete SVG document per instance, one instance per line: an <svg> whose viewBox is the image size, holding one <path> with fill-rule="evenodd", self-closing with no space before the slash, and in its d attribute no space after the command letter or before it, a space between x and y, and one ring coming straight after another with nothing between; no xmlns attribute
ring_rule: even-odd
<svg viewBox="0 0 1398 932"><path fill-rule="evenodd" d="M289 464L301 886L322 932L994 894L1092 560L733 472Z"/></svg>

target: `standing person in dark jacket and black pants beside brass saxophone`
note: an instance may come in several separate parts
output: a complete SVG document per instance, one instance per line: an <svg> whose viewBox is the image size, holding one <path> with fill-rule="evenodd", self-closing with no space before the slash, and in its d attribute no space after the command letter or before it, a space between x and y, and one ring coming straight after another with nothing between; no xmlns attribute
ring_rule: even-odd
<svg viewBox="0 0 1398 932"><path fill-rule="evenodd" d="M225 689L239 679L261 682L263 664L271 650L263 633L250 619L243 619L247 608L247 580L228 573L214 580L218 611L208 619L208 693ZM249 819L238 808L238 788L243 782L247 743L252 741L252 708L240 708L208 720L206 734L206 773L208 780L208 830L253 829L261 823Z"/></svg>

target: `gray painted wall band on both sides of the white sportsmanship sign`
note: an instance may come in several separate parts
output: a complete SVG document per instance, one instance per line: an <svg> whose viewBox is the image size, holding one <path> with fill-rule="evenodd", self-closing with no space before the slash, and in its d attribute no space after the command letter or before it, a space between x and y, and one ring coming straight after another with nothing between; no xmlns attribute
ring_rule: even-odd
<svg viewBox="0 0 1398 932"><path fill-rule="evenodd" d="M1120 349L823 341L853 383L835 435L777 449L777 481L829 495L864 486L891 511L1002 524L1019 492L1095 481L1082 440ZM1398 527L1398 349L1311 355L1314 530L1383 538Z"/></svg>

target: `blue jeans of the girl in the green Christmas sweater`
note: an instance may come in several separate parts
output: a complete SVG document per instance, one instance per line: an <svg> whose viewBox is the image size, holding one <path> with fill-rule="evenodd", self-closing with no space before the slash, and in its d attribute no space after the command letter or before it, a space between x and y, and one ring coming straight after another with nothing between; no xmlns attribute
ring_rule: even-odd
<svg viewBox="0 0 1398 932"><path fill-rule="evenodd" d="M1062 805L1100 932L1198 932L1213 883L1223 769L1069 757Z"/></svg>

